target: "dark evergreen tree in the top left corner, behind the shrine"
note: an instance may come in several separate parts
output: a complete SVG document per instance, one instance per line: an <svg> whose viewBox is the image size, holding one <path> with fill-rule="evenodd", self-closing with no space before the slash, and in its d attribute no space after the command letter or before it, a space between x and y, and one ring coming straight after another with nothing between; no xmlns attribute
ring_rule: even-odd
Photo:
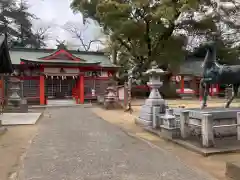
<svg viewBox="0 0 240 180"><path fill-rule="evenodd" d="M43 41L33 33L32 20L36 17L28 12L26 1L0 1L0 32L7 33L13 46L38 48Z"/></svg>

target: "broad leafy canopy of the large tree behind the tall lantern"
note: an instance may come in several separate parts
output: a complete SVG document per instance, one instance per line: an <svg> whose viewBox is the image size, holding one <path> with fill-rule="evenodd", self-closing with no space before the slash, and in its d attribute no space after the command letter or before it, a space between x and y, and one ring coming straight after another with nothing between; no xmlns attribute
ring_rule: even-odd
<svg viewBox="0 0 240 180"><path fill-rule="evenodd" d="M189 37L206 41L217 32L221 47L232 50L234 43L223 33L238 29L232 19L236 19L239 5L231 3L232 7L211 0L73 0L71 7L105 29L114 42L118 62L127 69L136 65L134 75L139 78L153 62L169 72L178 70Z"/></svg>

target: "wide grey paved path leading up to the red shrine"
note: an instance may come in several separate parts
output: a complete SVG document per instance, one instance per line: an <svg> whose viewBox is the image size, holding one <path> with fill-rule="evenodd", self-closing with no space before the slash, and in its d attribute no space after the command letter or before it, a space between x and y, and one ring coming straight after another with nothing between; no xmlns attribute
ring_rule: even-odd
<svg viewBox="0 0 240 180"><path fill-rule="evenodd" d="M90 108L48 109L20 180L211 180L165 150L96 117Z"/></svg>

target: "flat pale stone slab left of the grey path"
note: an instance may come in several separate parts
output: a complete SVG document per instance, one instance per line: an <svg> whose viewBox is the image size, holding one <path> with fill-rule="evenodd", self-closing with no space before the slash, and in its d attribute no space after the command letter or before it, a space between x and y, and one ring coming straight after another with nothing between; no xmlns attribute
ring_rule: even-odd
<svg viewBox="0 0 240 180"><path fill-rule="evenodd" d="M36 124L42 113L4 113L0 116L3 126Z"/></svg>

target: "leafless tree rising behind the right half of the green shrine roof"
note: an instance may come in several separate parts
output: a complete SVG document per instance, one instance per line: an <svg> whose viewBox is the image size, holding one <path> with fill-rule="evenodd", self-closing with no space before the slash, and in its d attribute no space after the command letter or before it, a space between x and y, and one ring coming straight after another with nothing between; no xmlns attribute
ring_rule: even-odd
<svg viewBox="0 0 240 180"><path fill-rule="evenodd" d="M102 42L102 40L100 39L100 37L95 37L91 40L87 40L86 38L84 38L84 34L86 33L86 30L89 28L89 23L86 23L83 25L82 28L77 27L76 24L71 23L71 22L67 22L64 26L63 29L66 30L67 32L69 32L73 38L78 39L81 43L81 47L84 49L84 51L90 51L92 45L94 43L100 43L100 44L104 44Z"/></svg>

